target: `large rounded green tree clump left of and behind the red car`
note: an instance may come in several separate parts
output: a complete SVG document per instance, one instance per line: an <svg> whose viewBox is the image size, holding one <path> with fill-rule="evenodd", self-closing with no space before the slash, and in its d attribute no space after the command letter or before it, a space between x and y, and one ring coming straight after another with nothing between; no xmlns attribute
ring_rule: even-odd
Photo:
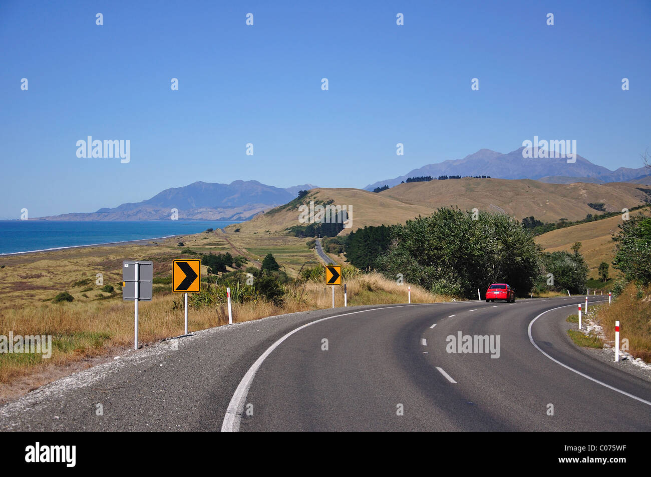
<svg viewBox="0 0 651 477"><path fill-rule="evenodd" d="M435 293L475 297L477 288L508 282L521 295L540 275L533 237L508 215L440 208L396 226L389 250L376 265L387 278L401 273Z"/></svg>

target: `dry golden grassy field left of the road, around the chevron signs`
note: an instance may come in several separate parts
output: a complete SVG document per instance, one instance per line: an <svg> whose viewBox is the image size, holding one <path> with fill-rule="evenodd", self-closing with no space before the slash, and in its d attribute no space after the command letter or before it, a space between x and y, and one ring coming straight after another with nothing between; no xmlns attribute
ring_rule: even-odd
<svg viewBox="0 0 651 477"><path fill-rule="evenodd" d="M236 238L232 239L232 236ZM228 239L228 240L227 240ZM184 247L178 247L183 241ZM230 245L230 243L233 245ZM139 306L139 337L148 344L179 336L184 332L182 295L171 293L172 260L198 258L184 254L192 251L243 252L251 260L261 260L271 252L292 276L305 262L314 266L318 260L307 240L283 236L260 237L221 231L182 238L121 244L113 247L87 247L62 251L39 252L0 258L0 335L51 335L52 355L29 353L0 353L0 402L19 396L44 383L66 375L78 366L89 366L93 359L120 353L133 346L133 302L122 301L120 282L122 260L152 260L154 262L154 299ZM251 266L249 262L246 266ZM104 285L111 284L113 293L100 292L95 284L96 274L102 273ZM206 269L202 266L202 273ZM368 274L347 280L349 305L406 303L407 284L398 286L380 275ZM69 292L72 302L53 303L59 292ZM329 308L331 288L321 282L306 282L302 286L286 286L283 306L266 301L234 303L234 321L250 321L288 312ZM413 303L445 301L448 297L433 295L411 286ZM337 289L335 306L343 306L343 296ZM228 323L225 304L191 310L189 329L197 331ZM77 366L77 368L75 368Z"/></svg>

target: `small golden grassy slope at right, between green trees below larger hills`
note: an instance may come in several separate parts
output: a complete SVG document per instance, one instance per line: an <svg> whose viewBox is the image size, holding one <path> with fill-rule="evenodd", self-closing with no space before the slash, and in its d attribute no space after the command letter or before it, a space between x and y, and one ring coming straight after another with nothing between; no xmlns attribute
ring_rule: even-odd
<svg viewBox="0 0 651 477"><path fill-rule="evenodd" d="M650 211L651 208L644 208L631 212L635 215L640 211ZM601 262L607 262L611 266L611 276L615 275L611 262L615 256L615 242L612 237L619 231L617 225L622 223L622 216L615 215L609 219L573 225L571 227L559 228L546 234L536 237L536 243L544 247L546 252L568 251L570 252L574 242L581 242L581 254L590 267L589 277L598 278L598 268Z"/></svg>

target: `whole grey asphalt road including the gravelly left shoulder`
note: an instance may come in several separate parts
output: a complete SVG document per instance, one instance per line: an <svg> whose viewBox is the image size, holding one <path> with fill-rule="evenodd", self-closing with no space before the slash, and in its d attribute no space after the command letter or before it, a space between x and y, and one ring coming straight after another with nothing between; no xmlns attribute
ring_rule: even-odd
<svg viewBox="0 0 651 477"><path fill-rule="evenodd" d="M0 409L0 429L651 430L651 383L567 338L580 301L337 308L201 331L40 388ZM458 332L499 336L499 357L449 353Z"/></svg>

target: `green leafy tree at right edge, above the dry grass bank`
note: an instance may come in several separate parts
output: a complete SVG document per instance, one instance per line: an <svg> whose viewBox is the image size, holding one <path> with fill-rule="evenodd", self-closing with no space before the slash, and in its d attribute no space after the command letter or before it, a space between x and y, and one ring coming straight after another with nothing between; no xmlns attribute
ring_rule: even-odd
<svg viewBox="0 0 651 477"><path fill-rule="evenodd" d="M616 243L613 266L624 273L626 280L648 285L651 282L651 216L631 215L618 228L620 231L613 236Z"/></svg>

